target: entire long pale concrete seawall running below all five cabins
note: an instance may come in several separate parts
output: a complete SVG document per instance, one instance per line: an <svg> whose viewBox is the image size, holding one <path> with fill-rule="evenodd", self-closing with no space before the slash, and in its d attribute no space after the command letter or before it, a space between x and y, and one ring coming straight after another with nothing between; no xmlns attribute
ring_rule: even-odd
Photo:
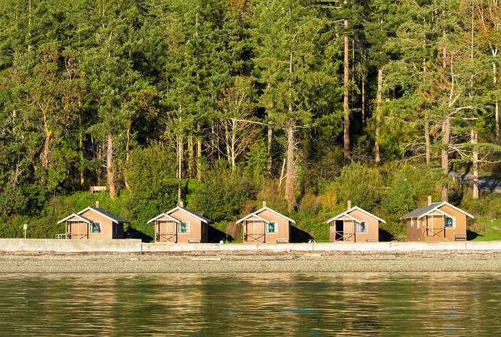
<svg viewBox="0 0 501 337"><path fill-rule="evenodd" d="M141 240L0 239L7 252L215 252L215 251L501 251L501 241L478 242L360 242L316 244L146 244Z"/></svg>

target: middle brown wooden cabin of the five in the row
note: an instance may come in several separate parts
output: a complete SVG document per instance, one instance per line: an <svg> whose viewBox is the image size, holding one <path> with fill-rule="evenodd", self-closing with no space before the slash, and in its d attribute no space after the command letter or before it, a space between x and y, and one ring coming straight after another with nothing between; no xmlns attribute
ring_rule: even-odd
<svg viewBox="0 0 501 337"><path fill-rule="evenodd" d="M242 223L244 243L279 244L290 242L290 223L296 222L283 214L266 207L248 214L237 221Z"/></svg>

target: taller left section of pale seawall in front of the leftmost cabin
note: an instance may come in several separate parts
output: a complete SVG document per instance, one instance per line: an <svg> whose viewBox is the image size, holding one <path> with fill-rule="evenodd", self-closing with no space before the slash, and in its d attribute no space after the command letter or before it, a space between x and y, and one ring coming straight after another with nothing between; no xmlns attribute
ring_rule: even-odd
<svg viewBox="0 0 501 337"><path fill-rule="evenodd" d="M141 240L0 239L0 251L141 252Z"/></svg>

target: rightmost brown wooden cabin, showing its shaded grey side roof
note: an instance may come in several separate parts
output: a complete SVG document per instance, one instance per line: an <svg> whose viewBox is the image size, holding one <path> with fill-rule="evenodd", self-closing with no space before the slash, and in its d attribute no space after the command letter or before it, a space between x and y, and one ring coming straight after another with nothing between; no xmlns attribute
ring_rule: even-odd
<svg viewBox="0 0 501 337"><path fill-rule="evenodd" d="M432 202L428 197L428 205L401 218L407 220L408 241L439 242L466 240L467 217L474 218L449 202Z"/></svg>

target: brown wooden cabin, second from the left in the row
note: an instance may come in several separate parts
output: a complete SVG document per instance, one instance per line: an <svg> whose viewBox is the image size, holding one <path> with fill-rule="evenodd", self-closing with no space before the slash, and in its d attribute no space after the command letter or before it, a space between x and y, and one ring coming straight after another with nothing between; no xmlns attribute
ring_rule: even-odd
<svg viewBox="0 0 501 337"><path fill-rule="evenodd" d="M185 207L183 202L176 208L148 220L154 224L155 242L200 243L209 242L209 223L203 213Z"/></svg>

